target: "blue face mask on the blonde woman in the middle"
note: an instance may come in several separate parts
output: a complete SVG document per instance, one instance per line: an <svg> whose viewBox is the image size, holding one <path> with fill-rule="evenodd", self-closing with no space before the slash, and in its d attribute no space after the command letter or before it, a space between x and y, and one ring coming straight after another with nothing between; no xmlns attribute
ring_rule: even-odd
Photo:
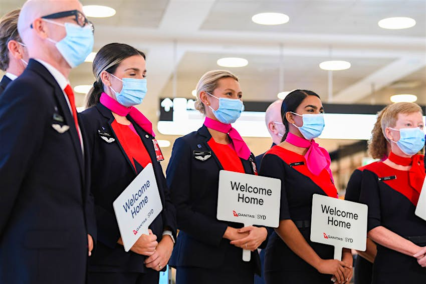
<svg viewBox="0 0 426 284"><path fill-rule="evenodd" d="M222 123L230 124L236 122L244 111L244 104L240 99L218 98L214 95L209 95L219 100L219 108L217 110L214 110L211 106L208 107Z"/></svg>

